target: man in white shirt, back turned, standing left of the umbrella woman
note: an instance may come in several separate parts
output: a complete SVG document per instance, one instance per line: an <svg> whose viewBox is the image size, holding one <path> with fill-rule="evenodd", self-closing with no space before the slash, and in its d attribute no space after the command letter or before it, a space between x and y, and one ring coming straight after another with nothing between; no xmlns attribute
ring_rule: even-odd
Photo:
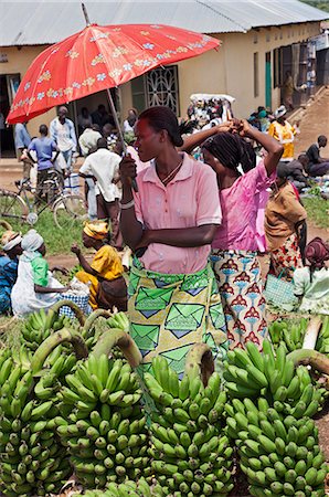
<svg viewBox="0 0 329 497"><path fill-rule="evenodd" d="M124 245L119 230L119 199L117 187L120 156L107 149L106 138L97 140L97 150L91 154L79 175L83 178L93 176L96 179L96 199L98 219L109 219L112 223L112 245L121 250Z"/></svg>

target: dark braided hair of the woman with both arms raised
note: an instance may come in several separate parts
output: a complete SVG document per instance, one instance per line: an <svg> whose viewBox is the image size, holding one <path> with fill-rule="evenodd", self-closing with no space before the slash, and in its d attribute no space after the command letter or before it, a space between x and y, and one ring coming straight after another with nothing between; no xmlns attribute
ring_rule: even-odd
<svg viewBox="0 0 329 497"><path fill-rule="evenodd" d="M252 145L237 134L219 133L202 145L210 154L229 169L236 169L241 163L244 172L256 166L256 154Z"/></svg>

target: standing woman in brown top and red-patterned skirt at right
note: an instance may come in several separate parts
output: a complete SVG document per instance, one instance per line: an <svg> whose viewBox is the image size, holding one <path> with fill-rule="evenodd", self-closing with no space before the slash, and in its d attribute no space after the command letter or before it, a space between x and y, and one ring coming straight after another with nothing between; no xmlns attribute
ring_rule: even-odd
<svg viewBox="0 0 329 497"><path fill-rule="evenodd" d="M286 178L277 178L265 210L265 235L270 254L269 271L277 277L293 279L294 271L303 267L299 230L307 212Z"/></svg>

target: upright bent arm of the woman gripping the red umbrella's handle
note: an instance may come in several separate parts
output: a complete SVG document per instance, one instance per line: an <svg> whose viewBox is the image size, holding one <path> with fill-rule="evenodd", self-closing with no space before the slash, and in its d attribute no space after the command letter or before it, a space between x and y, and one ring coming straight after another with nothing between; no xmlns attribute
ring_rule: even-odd
<svg viewBox="0 0 329 497"><path fill-rule="evenodd" d="M136 178L136 162L130 155L123 158L120 162L120 178L123 183L121 204L134 202L131 190L131 179ZM134 251L139 246L142 237L142 226L137 221L135 207L131 204L129 209L121 209L120 212L120 230L126 244Z"/></svg>

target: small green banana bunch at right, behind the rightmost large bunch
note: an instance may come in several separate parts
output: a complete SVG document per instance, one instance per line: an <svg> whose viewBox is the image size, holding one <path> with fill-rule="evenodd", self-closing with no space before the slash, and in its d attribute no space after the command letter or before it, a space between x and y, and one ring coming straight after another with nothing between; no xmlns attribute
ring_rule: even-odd
<svg viewBox="0 0 329 497"><path fill-rule="evenodd" d="M284 343L288 352L301 349L308 319L301 318L298 321L280 319L270 322L268 331L272 343L277 347Z"/></svg>

